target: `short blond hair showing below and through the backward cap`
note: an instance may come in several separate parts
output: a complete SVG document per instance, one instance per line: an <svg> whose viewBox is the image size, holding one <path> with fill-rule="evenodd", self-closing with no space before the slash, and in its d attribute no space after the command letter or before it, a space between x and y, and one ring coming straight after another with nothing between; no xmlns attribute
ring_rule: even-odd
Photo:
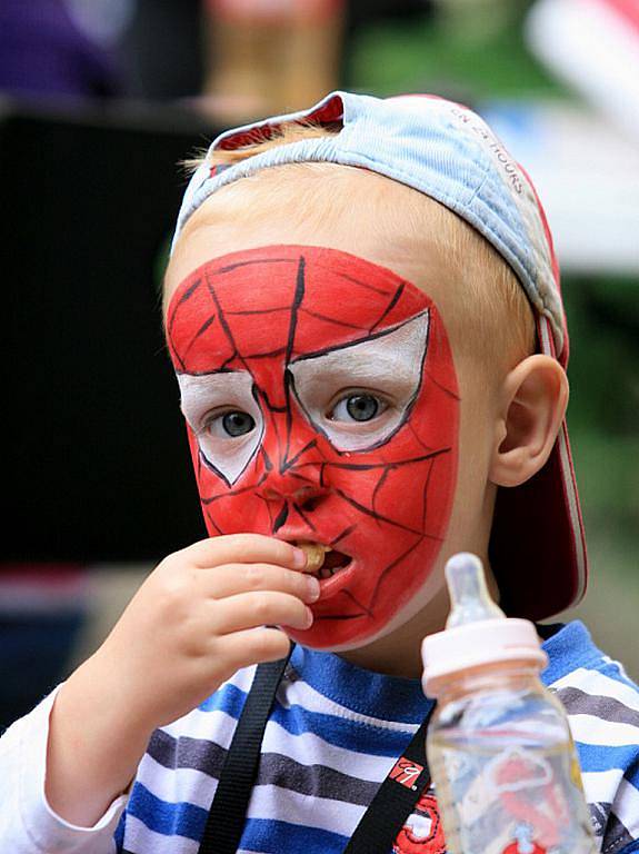
<svg viewBox="0 0 639 854"><path fill-rule="evenodd" d="M233 165L276 146L338 130L339 125L287 125L249 145L232 150L217 149L208 162L211 166ZM193 168L202 161L202 158L196 159L188 166ZM363 175L368 181L367 205L378 211L376 227L380 239L388 234L401 234L409 251L413 252L419 251L426 238L429 246L435 246L446 258L450 280L462 286L459 292L465 297L465 307L453 318L455 337L469 357L479 357L502 370L510 369L535 351L532 308L519 279L501 255L443 205L376 172L323 161L292 162L258 170L227 185L222 206L216 208L204 203L197 210L186 224L180 240L201 226L220 221L237 219L249 226L276 209L296 210L296 216L303 217L311 227L352 217L355 175ZM377 179L377 185L371 178ZM401 203L389 205L389 192L396 187L403 190Z"/></svg>

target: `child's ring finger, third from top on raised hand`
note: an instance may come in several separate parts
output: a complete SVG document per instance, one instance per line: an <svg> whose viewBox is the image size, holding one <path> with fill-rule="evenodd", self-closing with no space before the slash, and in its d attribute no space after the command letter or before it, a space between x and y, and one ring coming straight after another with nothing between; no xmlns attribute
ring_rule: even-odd
<svg viewBox="0 0 639 854"><path fill-rule="evenodd" d="M214 603L211 628L217 635L259 626L310 628L313 615L297 596L273 590L240 593Z"/></svg>

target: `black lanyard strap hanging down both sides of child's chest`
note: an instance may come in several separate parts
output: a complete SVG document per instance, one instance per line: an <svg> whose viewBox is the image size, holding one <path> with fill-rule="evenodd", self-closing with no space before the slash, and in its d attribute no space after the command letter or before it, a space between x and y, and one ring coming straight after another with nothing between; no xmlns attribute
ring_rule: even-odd
<svg viewBox="0 0 639 854"><path fill-rule="evenodd" d="M227 753L198 854L236 854L276 693L290 657L260 664ZM362 815L343 854L388 854L430 785L426 732L432 707Z"/></svg>

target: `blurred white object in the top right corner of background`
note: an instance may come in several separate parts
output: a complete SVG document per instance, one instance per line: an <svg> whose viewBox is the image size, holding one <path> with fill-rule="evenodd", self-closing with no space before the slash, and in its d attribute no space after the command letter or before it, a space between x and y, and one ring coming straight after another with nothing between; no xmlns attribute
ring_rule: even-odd
<svg viewBox="0 0 639 854"><path fill-rule="evenodd" d="M538 0L526 36L551 71L639 138L639 0Z"/></svg>

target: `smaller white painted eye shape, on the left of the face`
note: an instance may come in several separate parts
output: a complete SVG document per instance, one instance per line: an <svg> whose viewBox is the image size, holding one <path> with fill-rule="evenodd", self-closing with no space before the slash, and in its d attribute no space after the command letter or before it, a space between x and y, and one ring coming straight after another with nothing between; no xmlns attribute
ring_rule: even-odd
<svg viewBox="0 0 639 854"><path fill-rule="evenodd" d="M236 483L258 449L263 418L244 370L178 374L181 408L204 461L229 486Z"/></svg>

